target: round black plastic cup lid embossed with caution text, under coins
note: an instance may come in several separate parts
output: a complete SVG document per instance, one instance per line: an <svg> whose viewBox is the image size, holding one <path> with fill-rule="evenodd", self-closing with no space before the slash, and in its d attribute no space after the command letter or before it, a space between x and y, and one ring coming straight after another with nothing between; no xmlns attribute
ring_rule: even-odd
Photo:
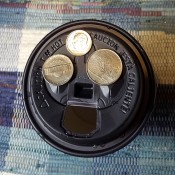
<svg viewBox="0 0 175 175"><path fill-rule="evenodd" d="M92 38L84 56L66 49L67 35L74 30ZM86 73L87 59L98 49L113 50L123 62L119 80L108 86L95 84ZM71 80L59 87L42 75L44 61L55 54L68 56L74 65ZM58 150L84 157L114 152L133 140L152 111L155 89L139 43L123 29L97 20L74 21L50 32L32 52L23 77L26 110L38 134Z"/></svg>

